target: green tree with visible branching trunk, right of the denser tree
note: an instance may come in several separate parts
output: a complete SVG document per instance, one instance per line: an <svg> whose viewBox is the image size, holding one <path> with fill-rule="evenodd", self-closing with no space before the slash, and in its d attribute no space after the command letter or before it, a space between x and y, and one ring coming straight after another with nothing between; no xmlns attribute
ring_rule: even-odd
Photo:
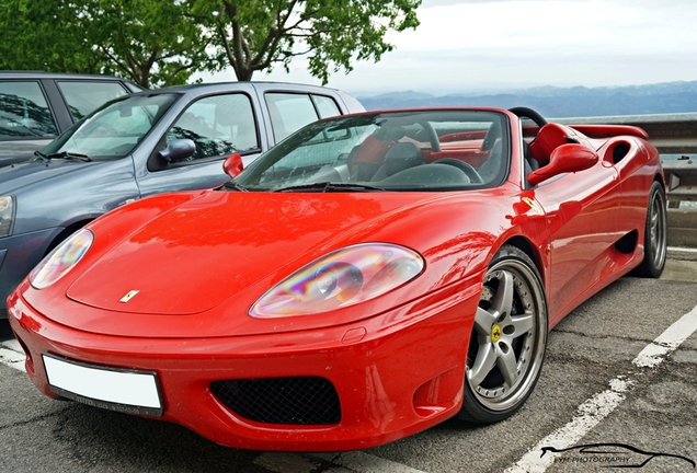
<svg viewBox="0 0 697 473"><path fill-rule="evenodd" d="M309 72L329 80L353 69L352 61L378 61L393 45L388 31L419 25L421 0L188 0L192 12L216 34L219 60L238 80L260 70L288 65L307 56Z"/></svg>

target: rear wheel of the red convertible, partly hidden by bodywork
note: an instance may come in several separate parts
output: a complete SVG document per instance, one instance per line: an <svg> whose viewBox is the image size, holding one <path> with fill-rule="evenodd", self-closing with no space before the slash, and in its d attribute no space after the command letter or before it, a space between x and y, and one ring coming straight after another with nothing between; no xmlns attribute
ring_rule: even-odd
<svg viewBox="0 0 697 473"><path fill-rule="evenodd" d="M643 261L635 269L641 277L658 278L665 267L667 255L667 210L665 193L660 183L653 182L649 192L647 222L643 233Z"/></svg>

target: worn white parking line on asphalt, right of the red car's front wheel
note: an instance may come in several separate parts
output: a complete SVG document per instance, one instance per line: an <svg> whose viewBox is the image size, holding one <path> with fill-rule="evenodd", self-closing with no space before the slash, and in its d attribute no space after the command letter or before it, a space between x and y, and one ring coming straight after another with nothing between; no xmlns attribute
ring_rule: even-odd
<svg viewBox="0 0 697 473"><path fill-rule="evenodd" d="M659 366L666 356L673 353L697 330L697 307L679 318L653 343L642 349L632 364L644 368ZM527 453L505 473L542 473L553 462L555 453L541 455L542 447L555 447L562 450L572 447L583 438L593 427L607 417L624 400L625 393L631 390L636 381L628 376L619 376L610 381L610 389L594 395L578 408L579 414L569 424L555 430Z"/></svg>

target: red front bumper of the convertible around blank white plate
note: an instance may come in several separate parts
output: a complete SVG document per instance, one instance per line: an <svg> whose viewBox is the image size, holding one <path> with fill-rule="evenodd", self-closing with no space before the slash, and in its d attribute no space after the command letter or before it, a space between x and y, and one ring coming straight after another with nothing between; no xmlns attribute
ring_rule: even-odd
<svg viewBox="0 0 697 473"><path fill-rule="evenodd" d="M479 292L478 285L452 288L429 298L437 304L410 303L409 316L400 308L322 330L205 339L76 331L46 319L18 292L8 299L8 310L27 354L26 371L48 396L58 394L48 385L44 354L90 366L149 371L157 373L163 403L157 418L235 448L339 451L395 441L457 413ZM294 377L323 379L333 385L341 409L338 422L252 420L212 389L220 381Z"/></svg>

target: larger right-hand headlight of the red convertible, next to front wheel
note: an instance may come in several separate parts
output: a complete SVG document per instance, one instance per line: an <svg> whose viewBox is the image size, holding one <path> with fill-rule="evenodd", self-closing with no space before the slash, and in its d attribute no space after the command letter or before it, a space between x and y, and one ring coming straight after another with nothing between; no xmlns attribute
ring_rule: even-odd
<svg viewBox="0 0 697 473"><path fill-rule="evenodd" d="M421 255L387 243L338 250L297 270L262 296L249 310L253 318L313 315L357 304L414 279L424 268Z"/></svg>

